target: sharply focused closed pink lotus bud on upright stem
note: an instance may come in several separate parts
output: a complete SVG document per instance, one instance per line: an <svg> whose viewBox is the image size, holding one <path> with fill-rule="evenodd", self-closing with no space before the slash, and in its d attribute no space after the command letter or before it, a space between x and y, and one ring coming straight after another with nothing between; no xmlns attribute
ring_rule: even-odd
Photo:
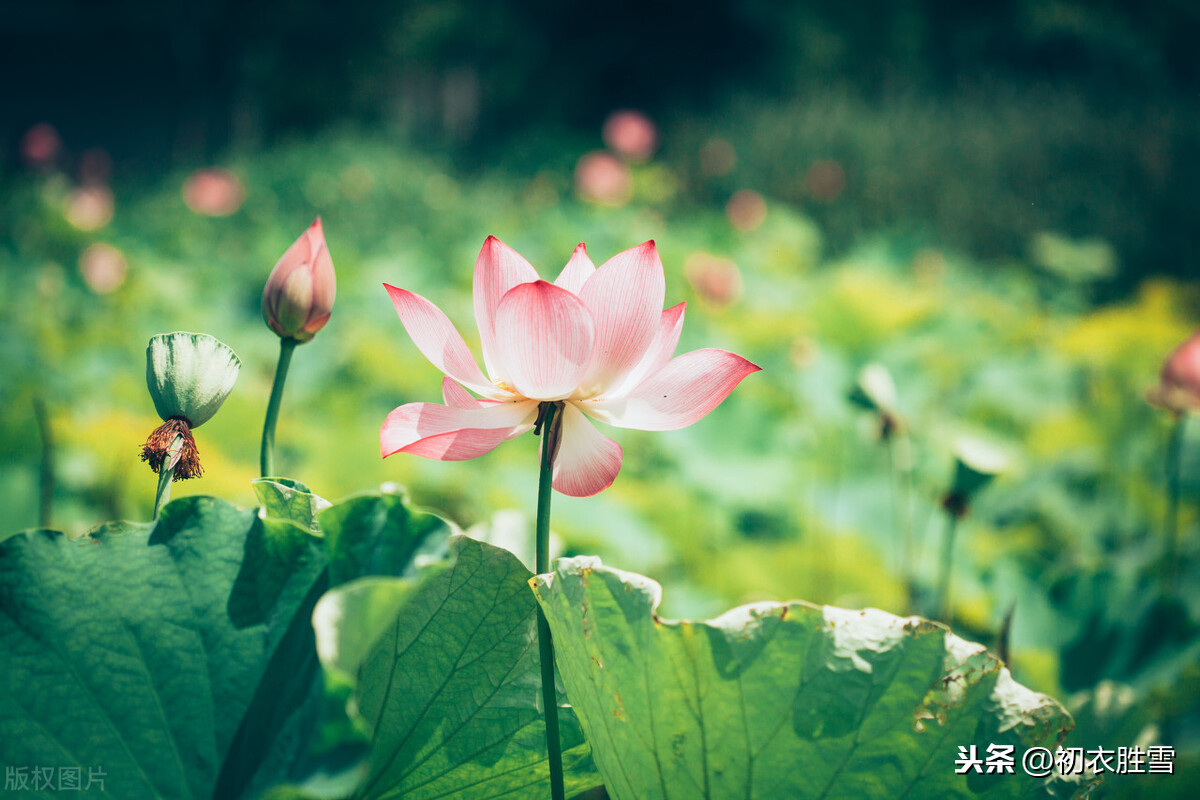
<svg viewBox="0 0 1200 800"><path fill-rule="evenodd" d="M320 217L288 247L263 289L263 319L282 338L310 341L329 321L337 294Z"/></svg>

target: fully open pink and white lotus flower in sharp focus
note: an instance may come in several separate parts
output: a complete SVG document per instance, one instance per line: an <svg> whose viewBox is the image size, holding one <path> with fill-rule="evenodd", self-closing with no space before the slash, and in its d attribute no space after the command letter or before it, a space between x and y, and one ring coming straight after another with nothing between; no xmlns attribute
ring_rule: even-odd
<svg viewBox="0 0 1200 800"><path fill-rule="evenodd" d="M384 457L475 458L532 429L540 409L553 403L560 409L551 432L553 487L587 497L612 486L622 459L620 445L590 420L683 428L758 371L725 350L672 357L684 303L662 311L662 261L653 241L599 269L580 245L550 283L488 236L475 261L474 305L490 377L437 306L384 287L413 343L446 375L445 404L408 403L388 415L379 432Z"/></svg>

